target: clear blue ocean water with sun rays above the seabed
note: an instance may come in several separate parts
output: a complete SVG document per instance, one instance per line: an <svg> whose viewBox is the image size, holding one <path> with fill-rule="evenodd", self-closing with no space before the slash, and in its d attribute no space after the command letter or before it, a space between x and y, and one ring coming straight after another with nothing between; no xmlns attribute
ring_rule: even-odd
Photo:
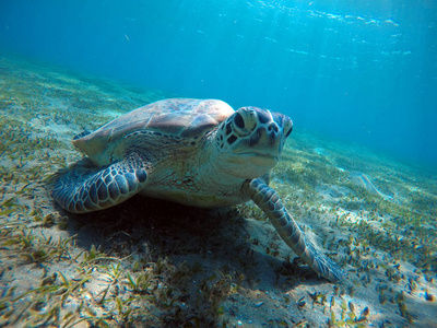
<svg viewBox="0 0 437 328"><path fill-rule="evenodd" d="M0 51L437 166L437 2L2 0Z"/></svg>

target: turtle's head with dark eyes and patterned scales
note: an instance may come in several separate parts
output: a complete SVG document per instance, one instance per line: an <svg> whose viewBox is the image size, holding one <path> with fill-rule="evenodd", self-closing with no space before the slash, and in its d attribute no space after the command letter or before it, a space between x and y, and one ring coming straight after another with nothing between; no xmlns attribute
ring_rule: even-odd
<svg viewBox="0 0 437 328"><path fill-rule="evenodd" d="M290 117L241 107L222 122L215 138L223 169L241 178L264 175L280 160L293 129Z"/></svg>

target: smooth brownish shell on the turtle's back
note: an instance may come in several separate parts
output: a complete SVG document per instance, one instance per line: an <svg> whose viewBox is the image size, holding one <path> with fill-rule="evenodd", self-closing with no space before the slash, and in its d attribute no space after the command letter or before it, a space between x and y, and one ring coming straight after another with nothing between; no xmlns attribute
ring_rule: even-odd
<svg viewBox="0 0 437 328"><path fill-rule="evenodd" d="M73 144L95 164L108 165L111 150L132 132L155 131L193 138L214 129L233 113L229 105L216 99L163 99L118 117L94 132L74 139Z"/></svg>

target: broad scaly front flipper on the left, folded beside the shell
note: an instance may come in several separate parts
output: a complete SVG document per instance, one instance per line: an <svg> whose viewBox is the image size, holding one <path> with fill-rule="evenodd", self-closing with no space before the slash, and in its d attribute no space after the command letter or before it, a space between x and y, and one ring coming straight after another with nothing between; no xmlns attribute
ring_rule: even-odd
<svg viewBox="0 0 437 328"><path fill-rule="evenodd" d="M75 168L55 184L52 197L72 213L86 213L116 206L138 194L147 172L137 154L106 168Z"/></svg>

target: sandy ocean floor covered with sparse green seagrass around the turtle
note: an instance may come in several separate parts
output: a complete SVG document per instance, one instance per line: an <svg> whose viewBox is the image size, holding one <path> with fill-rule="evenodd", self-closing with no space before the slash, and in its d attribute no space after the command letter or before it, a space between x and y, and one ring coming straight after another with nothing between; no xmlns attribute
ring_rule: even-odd
<svg viewBox="0 0 437 328"><path fill-rule="evenodd" d="M330 283L252 203L52 201L74 134L174 95L10 57L0 90L0 327L437 327L435 173L295 127L271 186Z"/></svg>

